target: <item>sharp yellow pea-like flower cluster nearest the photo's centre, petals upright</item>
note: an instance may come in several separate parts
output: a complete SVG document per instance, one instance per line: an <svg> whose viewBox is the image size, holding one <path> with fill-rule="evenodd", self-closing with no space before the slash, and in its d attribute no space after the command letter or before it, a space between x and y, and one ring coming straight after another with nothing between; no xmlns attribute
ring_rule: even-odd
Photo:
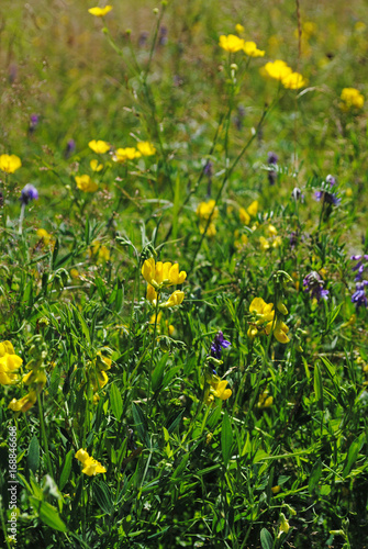
<svg viewBox="0 0 368 549"><path fill-rule="evenodd" d="M147 300L154 305L157 304L158 294L164 288L169 288L170 285L182 284L187 278L186 271L179 271L178 264L170 264L166 261L155 261L153 257L146 259L142 266L142 274L147 287ZM185 298L185 293L181 290L176 290L171 293L166 303L161 303L160 307L171 307L180 305Z"/></svg>

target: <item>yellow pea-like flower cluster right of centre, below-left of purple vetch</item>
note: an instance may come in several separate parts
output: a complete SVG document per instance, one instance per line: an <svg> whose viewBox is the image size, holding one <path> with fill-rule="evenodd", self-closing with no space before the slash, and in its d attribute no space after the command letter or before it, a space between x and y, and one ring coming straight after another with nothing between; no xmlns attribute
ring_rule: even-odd
<svg viewBox="0 0 368 549"><path fill-rule="evenodd" d="M288 326L281 317L277 316L275 320L274 303L266 303L261 298L255 298L250 303L249 312L253 313L254 320L249 323L248 337L254 338L261 334L268 336L272 330L279 343L290 341L287 336Z"/></svg>

